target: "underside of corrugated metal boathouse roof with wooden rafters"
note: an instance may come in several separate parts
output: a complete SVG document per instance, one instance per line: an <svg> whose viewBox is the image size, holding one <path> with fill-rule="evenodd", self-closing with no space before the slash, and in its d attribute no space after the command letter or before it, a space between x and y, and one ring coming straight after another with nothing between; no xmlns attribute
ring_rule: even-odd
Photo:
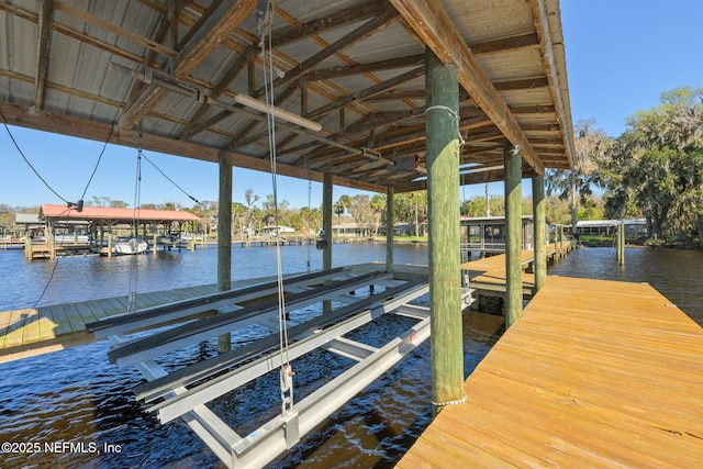
<svg viewBox="0 0 703 469"><path fill-rule="evenodd" d="M405 3L425 2L442 11L416 21ZM255 4L0 0L3 119L101 142L114 127L111 139L123 145L134 145L138 130L147 149L209 161L224 150L235 166L265 169L266 120L234 101L237 93L263 99ZM489 167L500 166L505 139L522 144L537 171L577 164L558 0L288 0L275 7L267 53L283 75L275 103L323 130L279 121L280 174L322 180L330 172L337 185L379 191L425 187L422 170L384 170L398 156L424 165L416 57L426 45L424 26L413 26L423 21L446 21L468 46L480 71L461 77L465 86L484 78L498 90L489 101L461 90L461 163L476 164L464 181L500 179L501 169ZM448 42L435 53L448 52ZM517 129L499 118L502 105Z"/></svg>

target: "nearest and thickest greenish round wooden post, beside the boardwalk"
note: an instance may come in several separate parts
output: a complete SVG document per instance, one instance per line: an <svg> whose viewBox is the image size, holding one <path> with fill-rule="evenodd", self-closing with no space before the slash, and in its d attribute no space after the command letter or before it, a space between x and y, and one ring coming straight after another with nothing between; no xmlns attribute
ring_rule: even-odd
<svg viewBox="0 0 703 469"><path fill-rule="evenodd" d="M459 74L425 51L432 401L434 413L464 398L459 244Z"/></svg>

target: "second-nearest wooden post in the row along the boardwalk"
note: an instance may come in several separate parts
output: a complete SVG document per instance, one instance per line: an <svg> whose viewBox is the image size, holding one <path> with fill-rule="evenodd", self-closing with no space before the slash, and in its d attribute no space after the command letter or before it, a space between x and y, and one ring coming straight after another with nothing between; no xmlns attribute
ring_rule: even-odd
<svg viewBox="0 0 703 469"><path fill-rule="evenodd" d="M518 148L503 146L505 161L505 328L523 314L522 163Z"/></svg>

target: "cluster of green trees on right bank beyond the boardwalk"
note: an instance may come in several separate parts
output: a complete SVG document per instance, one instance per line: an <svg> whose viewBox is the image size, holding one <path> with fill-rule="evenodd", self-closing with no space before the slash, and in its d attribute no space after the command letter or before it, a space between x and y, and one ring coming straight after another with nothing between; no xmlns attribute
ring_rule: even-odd
<svg viewBox="0 0 703 469"><path fill-rule="evenodd" d="M580 122L576 149L581 168L547 177L548 193L570 201L572 221L600 189L605 219L643 217L652 239L703 246L703 89L661 93L617 137Z"/></svg>

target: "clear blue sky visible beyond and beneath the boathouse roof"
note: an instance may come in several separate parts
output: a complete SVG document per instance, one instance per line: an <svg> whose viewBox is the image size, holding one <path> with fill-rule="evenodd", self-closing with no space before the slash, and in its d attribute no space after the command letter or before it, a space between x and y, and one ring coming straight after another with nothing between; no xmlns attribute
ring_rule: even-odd
<svg viewBox="0 0 703 469"><path fill-rule="evenodd" d="M661 92L703 87L703 0L560 0L569 99L573 124L593 121L610 136L621 135L627 118L659 104ZM217 200L217 165L144 152L141 183L136 183L137 152L10 126L19 150L0 126L0 204L38 206L43 203L92 198L141 203L172 202L183 208ZM40 180L29 164L58 194ZM91 180L91 174L100 164ZM163 171L172 182L160 172ZM90 181L90 185L88 182ZM271 175L234 168L233 199L244 203L253 189L261 200L272 193ZM313 182L311 206L322 203L322 185ZM523 193L529 193L529 183ZM277 178L278 198L290 208L309 205L309 182ZM489 185L502 194L502 182ZM369 192L335 187L333 199ZM484 193L483 185L460 189L469 199ZM260 201L259 201L260 206Z"/></svg>

